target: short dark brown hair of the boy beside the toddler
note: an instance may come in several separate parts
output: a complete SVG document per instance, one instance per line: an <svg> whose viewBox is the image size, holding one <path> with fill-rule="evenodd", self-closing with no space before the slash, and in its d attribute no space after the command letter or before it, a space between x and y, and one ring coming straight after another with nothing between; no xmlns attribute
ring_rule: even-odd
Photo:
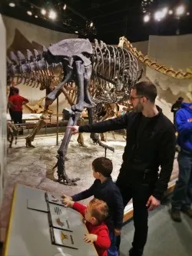
<svg viewBox="0 0 192 256"><path fill-rule="evenodd" d="M109 158L96 158L92 162L94 171L100 172L104 177L110 177L113 171L113 163Z"/></svg>

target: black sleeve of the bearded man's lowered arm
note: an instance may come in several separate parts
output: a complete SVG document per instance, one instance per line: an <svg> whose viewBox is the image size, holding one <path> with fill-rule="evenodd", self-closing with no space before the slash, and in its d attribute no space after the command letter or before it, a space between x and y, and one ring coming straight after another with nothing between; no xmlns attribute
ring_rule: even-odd
<svg viewBox="0 0 192 256"><path fill-rule="evenodd" d="M170 175L174 165L175 144L176 136L174 126L170 125L161 137L158 151L161 171L153 194L158 200L161 200L164 196L164 192L167 190L167 185L170 181Z"/></svg>

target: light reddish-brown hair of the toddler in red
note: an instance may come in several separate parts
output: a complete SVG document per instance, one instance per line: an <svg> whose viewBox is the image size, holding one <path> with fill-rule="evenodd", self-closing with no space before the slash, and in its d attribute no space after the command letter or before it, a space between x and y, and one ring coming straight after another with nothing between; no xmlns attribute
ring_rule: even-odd
<svg viewBox="0 0 192 256"><path fill-rule="evenodd" d="M92 199L88 204L91 216L101 224L108 217L108 204L97 198Z"/></svg>

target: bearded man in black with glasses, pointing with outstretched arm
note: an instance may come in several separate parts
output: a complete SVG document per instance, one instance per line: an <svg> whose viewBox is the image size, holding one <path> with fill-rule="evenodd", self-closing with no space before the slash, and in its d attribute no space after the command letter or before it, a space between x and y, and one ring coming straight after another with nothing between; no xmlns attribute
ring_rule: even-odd
<svg viewBox="0 0 192 256"><path fill-rule="evenodd" d="M143 254L147 241L148 211L161 203L174 163L174 125L155 105L156 97L154 84L138 82L131 91L134 111L93 125L69 127L73 134L127 129L127 144L116 185L121 191L124 207L133 199L135 231L129 251L131 256ZM117 240L119 247L120 236Z"/></svg>

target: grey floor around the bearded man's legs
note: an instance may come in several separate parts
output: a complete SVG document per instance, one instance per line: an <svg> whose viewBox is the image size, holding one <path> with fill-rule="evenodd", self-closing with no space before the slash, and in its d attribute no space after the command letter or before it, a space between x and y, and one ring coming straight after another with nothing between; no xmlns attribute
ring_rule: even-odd
<svg viewBox="0 0 192 256"><path fill-rule="evenodd" d="M149 233L144 256L191 256L192 219L182 214L183 221L171 220L169 204L161 205L149 216ZM124 225L121 256L127 256L134 235L133 221Z"/></svg>

